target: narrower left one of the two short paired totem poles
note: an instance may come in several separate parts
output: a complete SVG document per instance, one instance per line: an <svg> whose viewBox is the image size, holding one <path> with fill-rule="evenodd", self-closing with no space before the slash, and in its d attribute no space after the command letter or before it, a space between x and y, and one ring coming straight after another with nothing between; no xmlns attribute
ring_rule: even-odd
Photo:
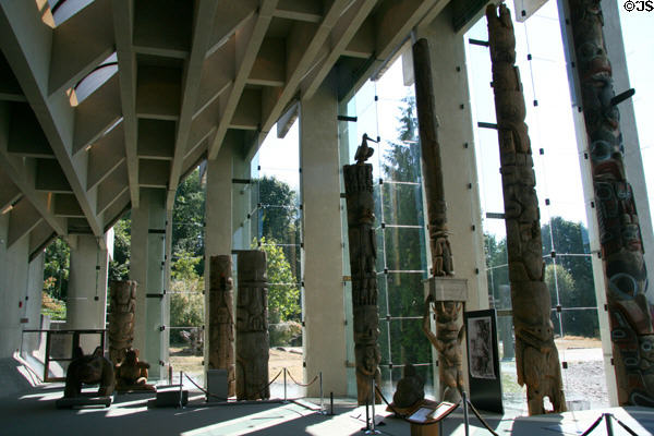
<svg viewBox="0 0 654 436"><path fill-rule="evenodd" d="M210 257L209 368L227 370L227 395L234 396L234 317L231 256Z"/></svg>

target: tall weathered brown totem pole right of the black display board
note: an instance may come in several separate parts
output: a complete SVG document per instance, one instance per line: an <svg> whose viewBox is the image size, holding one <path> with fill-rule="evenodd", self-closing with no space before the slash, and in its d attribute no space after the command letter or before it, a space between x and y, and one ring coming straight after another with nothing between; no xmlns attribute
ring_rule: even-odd
<svg viewBox="0 0 654 436"><path fill-rule="evenodd" d="M531 145L524 123L525 107L516 63L513 24L506 5L486 9L493 64L493 92L497 113L500 172L507 228L509 280L516 330L518 383L526 384L530 414L566 410L554 327L549 318L549 291L544 281L541 216L536 197Z"/></svg>

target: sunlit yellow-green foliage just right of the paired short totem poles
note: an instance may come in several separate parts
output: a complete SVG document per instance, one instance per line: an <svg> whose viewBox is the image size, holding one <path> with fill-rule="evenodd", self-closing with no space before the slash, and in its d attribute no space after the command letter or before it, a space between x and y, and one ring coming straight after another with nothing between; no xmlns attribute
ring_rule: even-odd
<svg viewBox="0 0 654 436"><path fill-rule="evenodd" d="M266 252L267 258L269 323L300 320L300 289L282 247L272 239L262 238L261 250Z"/></svg>

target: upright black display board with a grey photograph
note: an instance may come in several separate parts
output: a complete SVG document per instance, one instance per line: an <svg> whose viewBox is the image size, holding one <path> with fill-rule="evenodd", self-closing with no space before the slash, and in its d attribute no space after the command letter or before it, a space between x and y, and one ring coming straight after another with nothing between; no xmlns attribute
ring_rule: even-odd
<svg viewBox="0 0 654 436"><path fill-rule="evenodd" d="M463 314L468 347L470 401L481 410L504 413L494 308Z"/></svg>

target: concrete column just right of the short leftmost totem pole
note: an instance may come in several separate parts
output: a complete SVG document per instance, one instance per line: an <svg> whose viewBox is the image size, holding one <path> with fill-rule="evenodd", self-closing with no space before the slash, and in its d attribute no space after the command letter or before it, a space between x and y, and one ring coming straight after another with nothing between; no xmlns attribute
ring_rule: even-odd
<svg viewBox="0 0 654 436"><path fill-rule="evenodd" d="M141 205L132 209L130 278L138 282L134 320L134 348L150 364L150 378L160 378L166 361L166 191L143 189Z"/></svg>

